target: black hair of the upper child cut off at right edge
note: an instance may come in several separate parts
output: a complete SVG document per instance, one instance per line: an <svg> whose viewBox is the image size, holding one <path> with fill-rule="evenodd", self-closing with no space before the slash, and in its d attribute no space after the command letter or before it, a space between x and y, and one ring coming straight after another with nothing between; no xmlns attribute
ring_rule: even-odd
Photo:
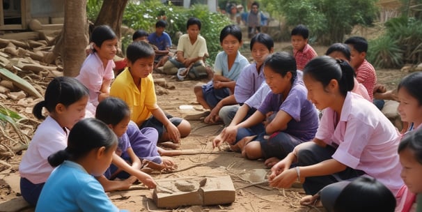
<svg viewBox="0 0 422 212"><path fill-rule="evenodd" d="M410 96L418 100L419 105L422 105L422 72L411 73L400 81L397 86L397 91L406 89Z"/></svg>

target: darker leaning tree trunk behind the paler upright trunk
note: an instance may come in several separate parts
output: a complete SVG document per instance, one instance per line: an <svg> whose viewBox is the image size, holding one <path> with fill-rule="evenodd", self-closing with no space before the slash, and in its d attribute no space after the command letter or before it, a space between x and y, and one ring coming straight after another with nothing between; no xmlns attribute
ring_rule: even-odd
<svg viewBox="0 0 422 212"><path fill-rule="evenodd" d="M97 16L94 25L107 24L114 30L118 40L120 40L120 26L123 21L123 12L125 11L128 0L104 0L102 2L100 14Z"/></svg>

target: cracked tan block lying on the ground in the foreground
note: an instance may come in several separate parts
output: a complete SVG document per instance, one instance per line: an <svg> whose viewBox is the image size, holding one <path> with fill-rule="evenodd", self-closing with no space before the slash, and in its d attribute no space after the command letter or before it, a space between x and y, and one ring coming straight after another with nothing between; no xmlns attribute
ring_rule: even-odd
<svg viewBox="0 0 422 212"><path fill-rule="evenodd" d="M235 186L230 176L162 179L157 184L153 200L159 208L235 202Z"/></svg>

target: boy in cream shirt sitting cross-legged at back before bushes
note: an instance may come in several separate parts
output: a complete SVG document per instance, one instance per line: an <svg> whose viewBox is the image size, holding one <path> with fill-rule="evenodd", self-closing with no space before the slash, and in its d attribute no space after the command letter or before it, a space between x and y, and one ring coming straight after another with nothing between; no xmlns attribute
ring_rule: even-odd
<svg viewBox="0 0 422 212"><path fill-rule="evenodd" d="M180 36L175 58L166 61L163 72L167 75L175 75L179 68L180 75L189 75L192 79L209 77L205 68L205 57L208 56L207 42L199 34L201 21L191 17L186 24L187 34Z"/></svg>

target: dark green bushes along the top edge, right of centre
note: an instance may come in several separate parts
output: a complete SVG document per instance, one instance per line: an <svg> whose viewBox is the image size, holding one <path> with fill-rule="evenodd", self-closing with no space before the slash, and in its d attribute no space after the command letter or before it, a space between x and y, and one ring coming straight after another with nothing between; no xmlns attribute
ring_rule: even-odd
<svg viewBox="0 0 422 212"><path fill-rule="evenodd" d="M370 25L377 15L377 0L267 0L265 10L273 17L283 15L290 28L308 27L311 38L323 44L343 42L356 24Z"/></svg>

